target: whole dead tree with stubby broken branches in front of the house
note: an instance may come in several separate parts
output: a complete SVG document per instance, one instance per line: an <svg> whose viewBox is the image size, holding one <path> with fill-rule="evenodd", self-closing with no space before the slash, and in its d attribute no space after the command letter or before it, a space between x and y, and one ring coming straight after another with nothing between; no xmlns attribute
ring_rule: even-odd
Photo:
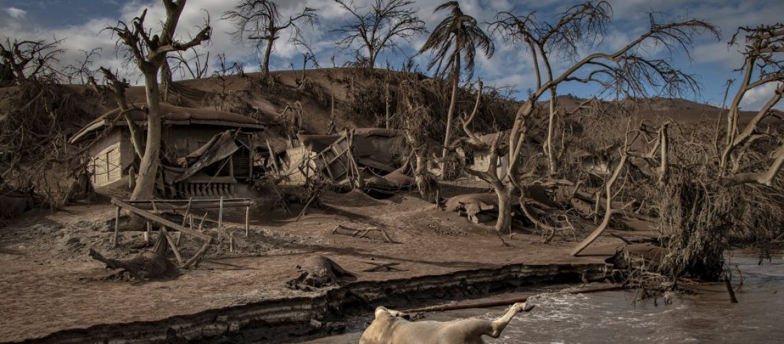
<svg viewBox="0 0 784 344"><path fill-rule="evenodd" d="M131 199L152 197L155 179L160 165L162 114L160 110L161 90L158 84L158 71L166 62L166 55L171 52L185 51L209 40L212 27L205 24L188 42L180 42L174 38L177 23L185 8L186 0L162 0L166 11L159 34L152 34L144 27L147 9L140 16L133 18L130 26L118 22L107 30L118 37L118 49L125 49L129 60L136 63L144 77L144 90L147 96L147 142L136 177L136 187Z"/></svg>

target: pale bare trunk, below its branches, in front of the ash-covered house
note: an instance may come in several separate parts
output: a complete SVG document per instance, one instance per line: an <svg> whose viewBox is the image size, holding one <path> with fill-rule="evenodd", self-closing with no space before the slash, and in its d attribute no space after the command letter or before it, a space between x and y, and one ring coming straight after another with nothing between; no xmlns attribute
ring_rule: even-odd
<svg viewBox="0 0 784 344"><path fill-rule="evenodd" d="M136 177L136 188L133 189L131 200L150 199L155 190L155 176L160 165L161 152L161 94L158 89L158 71L145 73L144 91L147 94L147 144L144 147L144 156L139 166L139 175Z"/></svg>

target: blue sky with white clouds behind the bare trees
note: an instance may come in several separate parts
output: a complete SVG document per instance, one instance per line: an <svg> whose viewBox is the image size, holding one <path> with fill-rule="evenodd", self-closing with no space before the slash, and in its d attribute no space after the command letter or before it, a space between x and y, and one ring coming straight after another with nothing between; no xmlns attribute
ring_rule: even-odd
<svg viewBox="0 0 784 344"><path fill-rule="evenodd" d="M349 2L351 0L348 0ZM358 7L369 5L373 0L354 0ZM419 0L412 5L418 9L419 17L426 23L428 31L446 16L446 13L434 13L437 5L445 0ZM198 32L209 13L213 27L212 40L209 45L201 47L202 52L209 51L210 69L216 67L216 56L226 55L227 61L238 61L245 66L246 72L258 71L260 53L253 42L239 42L230 34L234 30L233 23L221 20L227 10L236 5L232 0L188 0L176 34L186 39L189 34ZM339 8L335 2L328 0L278 0L278 7L283 16L301 11L305 6L319 9L320 19L313 27L303 27L305 41L311 46L321 67L332 67L333 59L336 66L352 60L353 56L337 48L336 41L340 35L332 29L345 24L350 15ZM463 13L474 16L486 30L486 22L493 21L499 11L513 11L524 14L536 11L539 20L556 20L557 15L579 2L568 0L462 0L459 2ZM739 79L742 56L738 46L728 46L732 34L738 27L756 26L758 24L774 24L784 20L784 2L778 0L611 0L613 19L601 44L590 49L579 49L579 55L597 51L609 52L626 45L637 35L648 30L648 13L657 13L663 18L694 17L706 20L720 27L721 38L717 40L708 34L695 37L695 46L688 54L677 53L672 56L675 66L688 74L698 76L702 90L689 95L689 100L700 103L720 105L724 98L724 85L730 78ZM60 56L60 64L78 64L84 53L100 48L100 56L95 58L93 68L111 67L120 71L132 83L141 82L133 66L122 65L122 54L116 53L116 37L103 28L117 24L119 20L129 22L138 16L143 9L149 9L147 27L158 29L164 15L162 3L154 0L0 0L0 39L64 39L62 48L65 53ZM288 70L302 67L303 49L287 42L288 34L284 34L274 46L270 58L270 70ZM425 42L427 35L401 40L399 51L387 51L379 56L376 67L384 67L389 62L391 67L399 69L409 56L426 71L426 63L430 56L417 55L419 47ZM661 51L651 51L650 57L661 57ZM579 58L580 56L572 56ZM557 60L554 70L564 71L570 60ZM309 66L310 67L310 66ZM535 82L532 62L529 53L521 47L503 42L495 38L495 55L486 58L477 53L475 77L482 78L485 85L506 89L515 89L512 96L523 99L527 90ZM737 84L737 82L735 83ZM741 105L744 110L756 110L773 94L776 85L768 84L753 89L744 97ZM732 89L731 89L732 90ZM576 96L590 97L597 88L583 84L565 84L559 86L561 94L572 93ZM655 95L655 92L652 94ZM732 92L730 94L733 94ZM784 104L777 106L784 108Z"/></svg>

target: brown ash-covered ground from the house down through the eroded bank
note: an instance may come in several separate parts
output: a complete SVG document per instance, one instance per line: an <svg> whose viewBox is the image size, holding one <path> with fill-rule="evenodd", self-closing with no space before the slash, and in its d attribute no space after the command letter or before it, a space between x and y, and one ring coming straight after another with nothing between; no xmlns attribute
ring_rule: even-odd
<svg viewBox="0 0 784 344"><path fill-rule="evenodd" d="M195 270L162 281L118 281L89 259L96 248L135 255L143 232L121 232L111 248L111 205L76 205L31 214L0 230L0 342L280 342L343 331L347 318L379 304L410 308L476 299L521 284L603 280L604 259L622 246L601 237L582 257L564 238L505 234L441 212L418 197L379 201L327 194L302 220L258 212L228 214L234 253L223 243ZM383 228L394 243L332 233L336 226ZM649 236L640 230L624 236ZM198 249L183 237L183 255ZM339 288L285 288L309 257L324 255L356 274ZM173 257L169 257L173 259ZM367 272L368 262L400 271ZM355 330L351 328L351 330Z"/></svg>

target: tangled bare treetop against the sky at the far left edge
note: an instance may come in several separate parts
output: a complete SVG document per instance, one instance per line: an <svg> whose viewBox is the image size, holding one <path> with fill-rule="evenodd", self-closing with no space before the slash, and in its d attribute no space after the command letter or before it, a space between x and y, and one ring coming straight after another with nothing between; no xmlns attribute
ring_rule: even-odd
<svg viewBox="0 0 784 344"><path fill-rule="evenodd" d="M64 53L64 49L58 48L61 42L57 39L48 42L5 38L5 43L0 42L0 85L35 80L42 74L56 74L53 63Z"/></svg>

